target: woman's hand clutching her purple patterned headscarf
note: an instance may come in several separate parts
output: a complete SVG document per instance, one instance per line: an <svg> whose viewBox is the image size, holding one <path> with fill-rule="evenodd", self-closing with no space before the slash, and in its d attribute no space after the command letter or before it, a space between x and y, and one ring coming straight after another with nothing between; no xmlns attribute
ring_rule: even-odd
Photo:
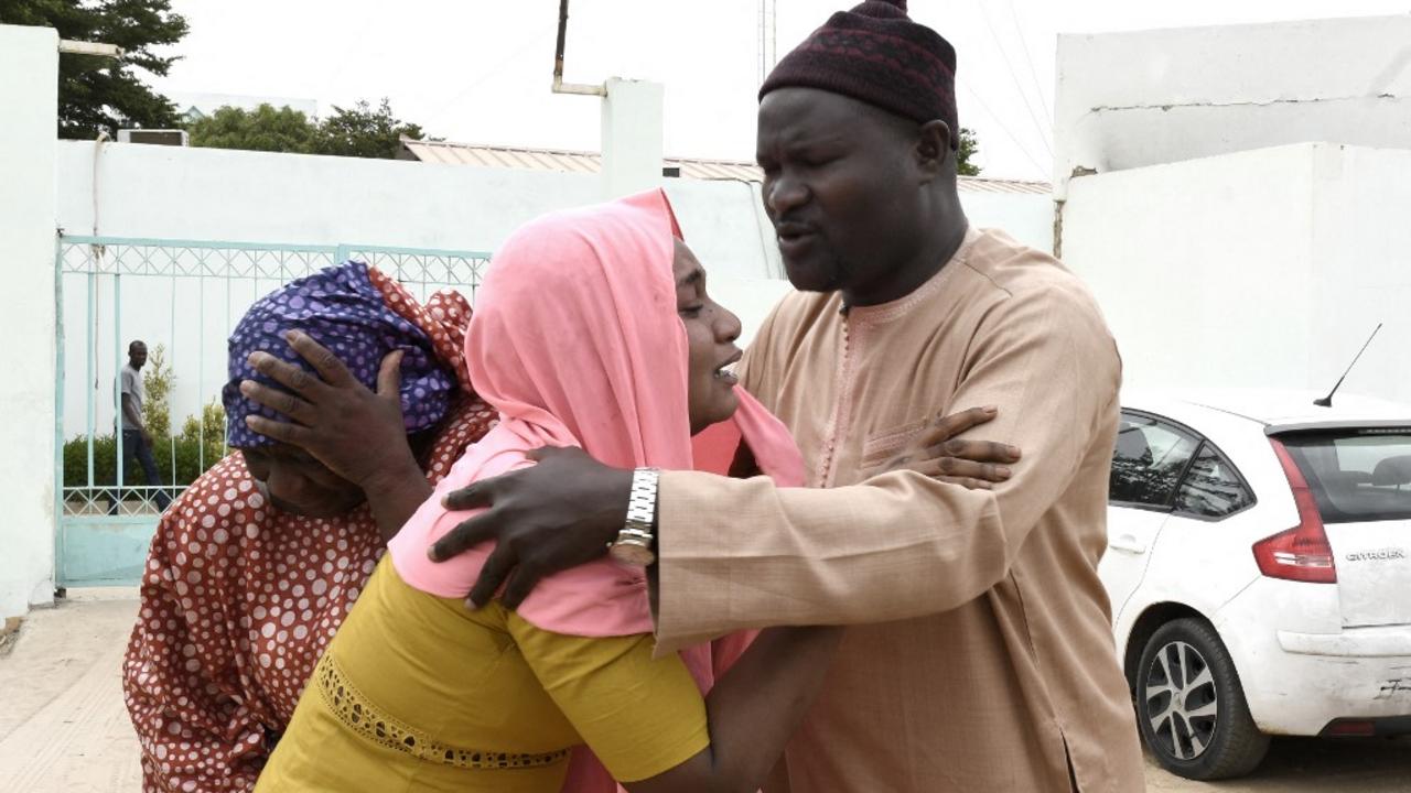
<svg viewBox="0 0 1411 793"><path fill-rule="evenodd" d="M268 353L253 353L250 365L288 391L247 380L240 392L288 420L251 415L246 419L250 429L303 449L364 490L418 468L402 420L401 351L382 358L374 394L306 333L291 330L286 339L317 375Z"/></svg>

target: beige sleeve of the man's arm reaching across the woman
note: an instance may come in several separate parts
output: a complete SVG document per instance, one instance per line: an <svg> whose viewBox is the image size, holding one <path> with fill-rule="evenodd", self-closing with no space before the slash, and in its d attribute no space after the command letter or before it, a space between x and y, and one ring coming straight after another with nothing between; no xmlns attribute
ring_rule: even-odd
<svg viewBox="0 0 1411 793"><path fill-rule="evenodd" d="M665 649L762 625L858 624L957 608L1006 574L1116 418L1120 364L1079 296L1012 301L976 337L951 405L1024 461L993 490L913 471L830 490L663 473L658 636ZM1091 468L1091 467L1089 467ZM1106 481L1106 471L1085 476Z"/></svg>

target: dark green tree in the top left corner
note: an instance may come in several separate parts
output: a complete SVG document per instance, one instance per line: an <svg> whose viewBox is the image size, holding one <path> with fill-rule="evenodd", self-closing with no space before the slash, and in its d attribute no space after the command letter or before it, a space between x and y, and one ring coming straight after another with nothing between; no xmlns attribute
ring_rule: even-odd
<svg viewBox="0 0 1411 793"><path fill-rule="evenodd" d="M138 76L138 69L165 76L176 61L175 55L158 55L154 49L186 35L186 20L171 10L171 0L0 0L0 23L52 27L59 38L123 48L117 61L59 56L61 138L176 124L172 103Z"/></svg>

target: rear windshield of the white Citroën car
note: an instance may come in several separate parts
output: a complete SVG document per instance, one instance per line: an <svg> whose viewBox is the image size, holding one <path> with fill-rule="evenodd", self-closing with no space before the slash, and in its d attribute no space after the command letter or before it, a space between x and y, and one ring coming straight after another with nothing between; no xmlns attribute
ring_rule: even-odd
<svg viewBox="0 0 1411 793"><path fill-rule="evenodd" d="M1411 428L1283 435L1325 523L1411 519Z"/></svg>

